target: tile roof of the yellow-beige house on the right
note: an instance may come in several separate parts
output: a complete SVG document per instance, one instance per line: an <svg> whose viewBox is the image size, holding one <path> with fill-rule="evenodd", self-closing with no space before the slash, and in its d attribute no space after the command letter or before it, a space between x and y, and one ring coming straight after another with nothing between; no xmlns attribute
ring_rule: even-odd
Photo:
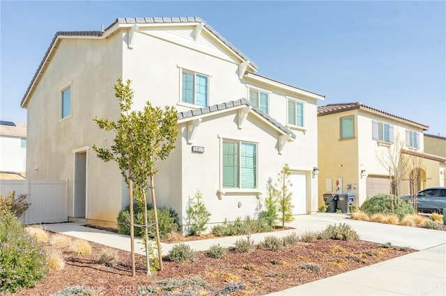
<svg viewBox="0 0 446 296"><path fill-rule="evenodd" d="M379 109L364 105L360 101L357 101L355 103L339 103L339 104L328 104L325 106L319 106L318 107L318 116L329 115L329 114L333 114L333 113L340 113L340 112L345 112L348 110L355 110L355 109L367 110L367 111L371 111L372 113L378 113L380 115L392 117L392 118L394 118L396 120L400 120L402 122L407 122L409 124L414 124L414 125L420 126L424 130L429 129L429 126L427 126L426 124L414 122L413 120L408 120L404 117L393 115L393 114L387 113L383 110L379 110Z"/></svg>

